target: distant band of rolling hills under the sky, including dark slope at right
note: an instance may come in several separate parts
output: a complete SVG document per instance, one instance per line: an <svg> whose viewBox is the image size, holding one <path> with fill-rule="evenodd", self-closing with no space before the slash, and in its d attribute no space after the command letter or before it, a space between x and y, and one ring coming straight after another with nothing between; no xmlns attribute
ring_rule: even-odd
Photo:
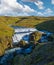
<svg viewBox="0 0 54 65"><path fill-rule="evenodd" d="M25 16L25 17L7 17L0 16L0 22L5 23L8 26L24 26L35 27L37 29L45 29L50 32L54 32L54 16L50 17L38 17L38 16Z"/></svg>

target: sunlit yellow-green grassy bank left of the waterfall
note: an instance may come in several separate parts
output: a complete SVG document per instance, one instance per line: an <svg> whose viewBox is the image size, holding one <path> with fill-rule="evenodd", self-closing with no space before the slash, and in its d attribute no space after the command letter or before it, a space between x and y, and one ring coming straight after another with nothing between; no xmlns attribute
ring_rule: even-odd
<svg viewBox="0 0 54 65"><path fill-rule="evenodd" d="M12 35L13 29L0 19L0 56L4 54L6 49L12 46Z"/></svg>

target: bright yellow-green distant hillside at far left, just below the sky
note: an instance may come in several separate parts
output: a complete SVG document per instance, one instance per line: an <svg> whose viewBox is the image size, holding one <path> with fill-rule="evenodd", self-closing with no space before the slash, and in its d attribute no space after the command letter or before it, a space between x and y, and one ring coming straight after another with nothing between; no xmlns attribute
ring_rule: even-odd
<svg viewBox="0 0 54 65"><path fill-rule="evenodd" d="M19 20L18 17L0 16L0 22L3 22L9 26L13 25L17 20Z"/></svg>

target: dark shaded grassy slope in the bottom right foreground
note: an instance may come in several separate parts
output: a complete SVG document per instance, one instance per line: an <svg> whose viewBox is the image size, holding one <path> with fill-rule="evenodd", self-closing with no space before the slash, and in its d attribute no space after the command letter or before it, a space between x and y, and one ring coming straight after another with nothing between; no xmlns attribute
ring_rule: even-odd
<svg viewBox="0 0 54 65"><path fill-rule="evenodd" d="M54 43L38 44L28 55L17 55L13 65L54 65Z"/></svg>

